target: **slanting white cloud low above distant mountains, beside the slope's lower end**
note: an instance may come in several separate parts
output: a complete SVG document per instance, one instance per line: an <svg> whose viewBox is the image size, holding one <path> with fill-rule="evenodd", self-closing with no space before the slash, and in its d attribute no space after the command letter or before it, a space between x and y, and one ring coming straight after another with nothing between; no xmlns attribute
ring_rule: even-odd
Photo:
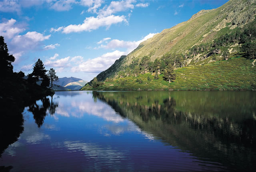
<svg viewBox="0 0 256 172"><path fill-rule="evenodd" d="M113 51L109 53L105 53L100 57L96 57L94 59L88 59L80 63L76 67L72 67L72 72L90 72L90 73L99 73L108 69L116 59L119 59L121 55L126 55L126 52L123 51Z"/></svg>

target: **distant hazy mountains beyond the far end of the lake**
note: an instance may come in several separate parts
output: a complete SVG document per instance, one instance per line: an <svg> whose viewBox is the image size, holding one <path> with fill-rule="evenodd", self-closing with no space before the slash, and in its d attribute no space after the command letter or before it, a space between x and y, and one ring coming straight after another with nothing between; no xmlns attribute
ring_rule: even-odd
<svg viewBox="0 0 256 172"><path fill-rule="evenodd" d="M84 81L82 79L75 78L75 77L69 77L69 78L63 77L63 78L59 78L58 81L54 82L54 84L60 85L62 87L66 87L67 89L70 89L70 90L79 90L86 83L87 81Z"/></svg>

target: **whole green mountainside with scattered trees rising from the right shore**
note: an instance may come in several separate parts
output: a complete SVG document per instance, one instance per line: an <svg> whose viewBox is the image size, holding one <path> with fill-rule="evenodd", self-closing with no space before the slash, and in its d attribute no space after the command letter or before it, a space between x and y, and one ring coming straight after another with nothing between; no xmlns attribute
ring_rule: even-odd
<svg viewBox="0 0 256 172"><path fill-rule="evenodd" d="M90 81L81 90L251 90L255 87L255 16L256 0L230 0L219 8L201 10L140 43L97 75L98 83ZM176 69L176 80L169 84L163 77L170 67ZM154 80L150 73L160 78Z"/></svg>

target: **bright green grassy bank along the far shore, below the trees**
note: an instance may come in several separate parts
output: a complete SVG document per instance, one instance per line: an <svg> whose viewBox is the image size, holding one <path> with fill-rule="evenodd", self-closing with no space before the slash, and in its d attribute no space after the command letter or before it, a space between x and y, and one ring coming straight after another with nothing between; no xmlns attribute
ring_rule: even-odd
<svg viewBox="0 0 256 172"><path fill-rule="evenodd" d="M244 57L232 57L227 61L215 61L205 65L176 69L176 79L172 83L154 79L151 73L138 77L119 78L106 82L91 90L252 90L256 84L256 67ZM148 81L150 77L150 81ZM82 88L85 90L85 88Z"/></svg>

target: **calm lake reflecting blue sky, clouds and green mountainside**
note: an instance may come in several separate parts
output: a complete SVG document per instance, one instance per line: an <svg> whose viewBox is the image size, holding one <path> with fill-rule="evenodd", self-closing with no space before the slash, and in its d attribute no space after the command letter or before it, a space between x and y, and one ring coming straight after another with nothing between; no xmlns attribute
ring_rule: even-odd
<svg viewBox="0 0 256 172"><path fill-rule="evenodd" d="M62 91L26 107L12 171L256 167L256 92Z"/></svg>

